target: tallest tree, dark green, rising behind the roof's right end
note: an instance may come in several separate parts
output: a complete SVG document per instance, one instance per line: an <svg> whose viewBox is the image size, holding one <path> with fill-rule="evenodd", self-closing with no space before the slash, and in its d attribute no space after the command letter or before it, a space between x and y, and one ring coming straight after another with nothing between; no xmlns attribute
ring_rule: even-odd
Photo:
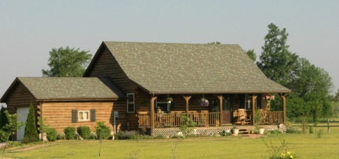
<svg viewBox="0 0 339 159"><path fill-rule="evenodd" d="M262 54L257 66L273 81L290 88L298 67L298 56L288 50L286 44L288 33L286 29L280 30L276 24L269 24L269 33L265 36Z"/></svg>

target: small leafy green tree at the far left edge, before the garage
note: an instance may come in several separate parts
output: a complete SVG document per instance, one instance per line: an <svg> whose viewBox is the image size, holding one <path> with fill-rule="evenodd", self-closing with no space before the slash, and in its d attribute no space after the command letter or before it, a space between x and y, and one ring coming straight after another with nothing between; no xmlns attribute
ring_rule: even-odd
<svg viewBox="0 0 339 159"><path fill-rule="evenodd" d="M5 142L5 146L3 146L2 151L2 158L3 154L5 153L6 147L8 146L8 140L11 135L15 134L15 131L20 129L21 126L24 125L21 121L19 121L19 115L18 114L9 114L8 110L5 110L6 117L8 119L8 123L6 123L5 126L0 128L0 141Z"/></svg>

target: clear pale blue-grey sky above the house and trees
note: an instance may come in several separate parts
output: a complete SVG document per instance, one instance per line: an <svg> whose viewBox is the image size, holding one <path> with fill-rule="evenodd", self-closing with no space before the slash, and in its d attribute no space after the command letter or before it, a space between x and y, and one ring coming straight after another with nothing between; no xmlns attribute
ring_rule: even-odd
<svg viewBox="0 0 339 159"><path fill-rule="evenodd" d="M0 0L0 96L15 77L40 77L53 47L95 54L102 41L239 44L262 52L270 23L289 50L339 88L339 1ZM334 89L336 91L336 89Z"/></svg>

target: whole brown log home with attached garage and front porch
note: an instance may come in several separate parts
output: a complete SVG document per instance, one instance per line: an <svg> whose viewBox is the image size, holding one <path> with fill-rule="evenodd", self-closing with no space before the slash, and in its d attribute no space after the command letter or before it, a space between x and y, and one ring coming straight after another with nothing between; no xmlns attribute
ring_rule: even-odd
<svg viewBox="0 0 339 159"><path fill-rule="evenodd" d="M28 85L22 79L37 84ZM39 80L54 79L60 85L40 82L45 87L38 88ZM112 114L119 112L118 130L141 129L149 135L173 135L181 126L181 114L195 121L199 132L218 132L234 124L253 126L255 109L261 109L263 124L276 128L286 122L285 96L290 92L268 79L239 45L103 42L82 78L65 79L74 79L75 83L86 79L100 81L96 84L105 85L106 96L98 90L82 90L89 86L96 89L94 83L68 85L63 79L17 78L1 102L7 103L13 112L29 103L42 106L37 114L47 118L49 124L58 123L52 127L59 131L65 126L86 124L93 128L91 120L73 123L72 114L77 111L79 121L82 110L96 109L94 117L86 112L86 118L107 121L112 126ZM77 93L67 98L66 93L54 92L43 99L31 91L34 88L48 92L48 87L59 86ZM90 92L92 96L84 96ZM275 95L283 104L280 111L271 112L270 100Z"/></svg>

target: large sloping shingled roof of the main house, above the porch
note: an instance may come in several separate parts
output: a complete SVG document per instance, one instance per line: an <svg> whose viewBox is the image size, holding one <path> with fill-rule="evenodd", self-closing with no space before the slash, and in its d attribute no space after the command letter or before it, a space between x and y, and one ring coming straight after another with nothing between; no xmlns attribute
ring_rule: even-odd
<svg viewBox="0 0 339 159"><path fill-rule="evenodd" d="M239 45L104 42L126 75L151 93L285 93Z"/></svg>

